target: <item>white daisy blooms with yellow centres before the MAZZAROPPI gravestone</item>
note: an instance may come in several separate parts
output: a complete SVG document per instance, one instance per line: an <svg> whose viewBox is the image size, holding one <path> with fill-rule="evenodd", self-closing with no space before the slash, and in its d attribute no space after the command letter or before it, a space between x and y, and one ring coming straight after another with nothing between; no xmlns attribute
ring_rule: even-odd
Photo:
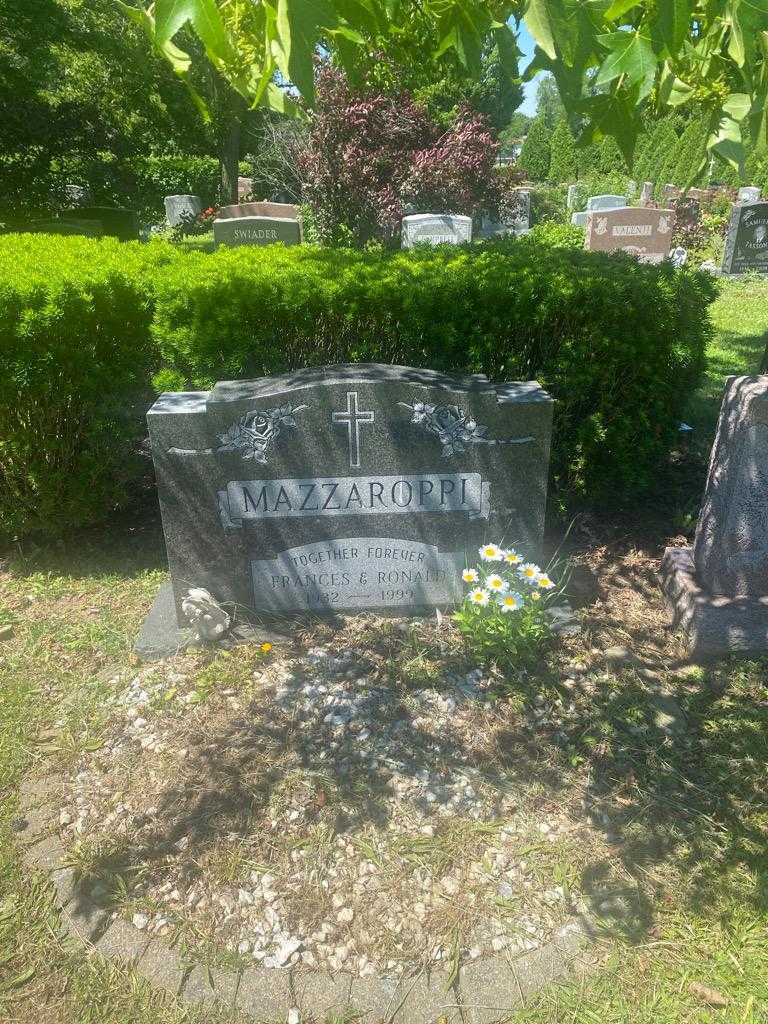
<svg viewBox="0 0 768 1024"><path fill-rule="evenodd" d="M514 548L483 544L478 554L480 567L462 572L464 582L472 587L466 600L477 607L497 604L503 612L518 611L526 599L539 601L542 591L555 586L546 572L534 562L523 561Z"/></svg>

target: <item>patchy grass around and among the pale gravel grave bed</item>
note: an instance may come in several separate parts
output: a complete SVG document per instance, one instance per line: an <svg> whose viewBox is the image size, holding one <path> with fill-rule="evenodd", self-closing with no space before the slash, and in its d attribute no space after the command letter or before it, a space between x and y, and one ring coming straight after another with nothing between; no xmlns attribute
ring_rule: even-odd
<svg viewBox="0 0 768 1024"><path fill-rule="evenodd" d="M465 740L468 755L474 742L487 744L483 763L514 798L503 816L516 822L511 850L526 862L528 891L538 897L540 890L562 887L599 936L588 953L594 970L552 987L510 1020L768 1020L768 663L687 665L679 635L665 625L655 578L665 538L658 540L658 548L644 551L600 540L592 528L578 534L573 589L582 635L559 641L532 673L492 675L493 709L478 710ZM0 625L12 628L0 641L0 1020L241 1020L183 1008L133 972L59 939L50 885L19 864L19 782L71 773L76 765L87 773L106 756L106 741L125 714L121 700L141 671L132 639L162 574L154 527L132 537L116 524L109 540L91 537L57 554L13 557L0 571ZM301 650L372 652L379 678L404 707L420 694L450 694L446 670L464 672L469 665L450 627L437 631L431 622L393 632L389 624L368 621L300 639ZM165 722L170 733L181 729L191 758L196 742L215 740L217 729L242 728L239 708L258 714L260 680L280 675L295 656L296 650L276 647L180 655L144 677L156 688L142 714ZM186 714L194 725L184 733ZM222 758L240 742L237 733L224 734ZM172 735L167 742L172 745ZM177 760L166 762L169 773ZM226 784L227 771L214 787ZM125 788L128 802L128 782ZM284 787L270 807L288 810L286 795L299 791ZM216 799L221 796L217 790ZM321 804L327 800L332 808L338 798L323 783L313 799L319 814L326 813ZM175 823L169 817L168 827ZM463 829L438 823L434 836L421 835L395 851L388 869L400 858L406 874L415 863L439 873L464 855L468 836L475 842ZM479 831L477 842L485 842ZM96 827L90 842L74 842L71 851L86 878L91 872L114 883L121 877L119 870L111 876L116 850L105 829ZM243 851L247 861L245 846L209 845L206 862L217 885L241 877ZM261 850L278 864L275 873L285 853L279 846ZM379 854L386 859L385 851ZM364 855L372 856L370 847ZM151 865L144 870L152 874ZM117 897L114 905L129 918L140 908ZM429 920L435 928L445 924L439 915ZM237 966L237 954L216 951L206 938L180 933L198 962Z"/></svg>

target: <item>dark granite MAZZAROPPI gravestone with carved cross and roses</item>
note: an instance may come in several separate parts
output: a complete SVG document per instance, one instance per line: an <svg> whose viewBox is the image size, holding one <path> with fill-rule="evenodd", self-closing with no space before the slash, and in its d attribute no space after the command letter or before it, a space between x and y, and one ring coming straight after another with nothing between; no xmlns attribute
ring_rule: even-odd
<svg viewBox="0 0 768 1024"><path fill-rule="evenodd" d="M535 381L375 364L161 395L171 631L198 588L257 621L408 614L452 604L485 541L536 557L552 408Z"/></svg>

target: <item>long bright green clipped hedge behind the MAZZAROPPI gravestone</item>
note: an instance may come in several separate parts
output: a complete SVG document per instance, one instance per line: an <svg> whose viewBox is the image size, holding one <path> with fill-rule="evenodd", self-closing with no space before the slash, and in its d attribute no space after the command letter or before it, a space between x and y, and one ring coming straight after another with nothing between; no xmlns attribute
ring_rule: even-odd
<svg viewBox="0 0 768 1024"><path fill-rule="evenodd" d="M394 254L0 239L0 531L125 501L151 381L335 361L536 377L558 399L555 484L635 498L701 372L714 285L555 234Z"/></svg>

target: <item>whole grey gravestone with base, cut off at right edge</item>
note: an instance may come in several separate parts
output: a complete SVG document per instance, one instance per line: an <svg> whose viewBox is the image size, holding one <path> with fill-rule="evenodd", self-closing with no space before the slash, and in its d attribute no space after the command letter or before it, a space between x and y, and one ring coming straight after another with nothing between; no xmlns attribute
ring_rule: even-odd
<svg viewBox="0 0 768 1024"><path fill-rule="evenodd" d="M728 379L693 547L662 578L693 656L768 651L768 376Z"/></svg>

